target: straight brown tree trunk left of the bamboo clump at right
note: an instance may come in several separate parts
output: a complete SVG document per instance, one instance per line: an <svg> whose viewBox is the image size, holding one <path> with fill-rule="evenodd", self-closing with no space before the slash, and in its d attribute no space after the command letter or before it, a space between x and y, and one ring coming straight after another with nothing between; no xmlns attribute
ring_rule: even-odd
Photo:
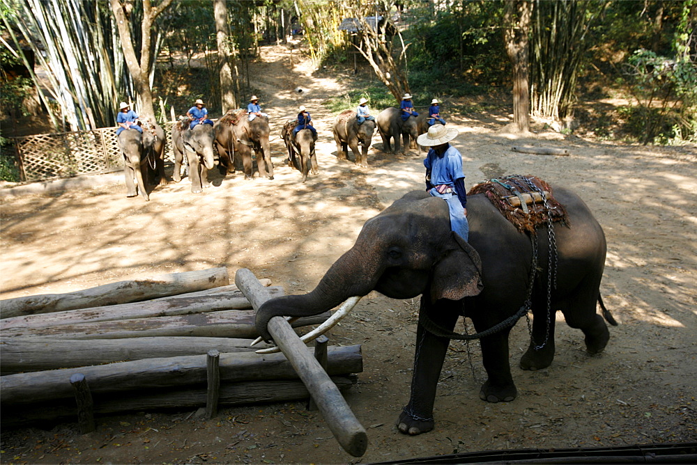
<svg viewBox="0 0 697 465"><path fill-rule="evenodd" d="M532 8L528 0L507 0L504 13L504 42L513 65L513 123L519 132L530 129L528 36Z"/></svg>

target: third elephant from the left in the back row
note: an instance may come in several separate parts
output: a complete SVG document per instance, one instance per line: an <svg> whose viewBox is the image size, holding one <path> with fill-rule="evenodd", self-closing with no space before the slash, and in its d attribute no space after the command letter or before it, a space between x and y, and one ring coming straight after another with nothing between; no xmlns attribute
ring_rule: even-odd
<svg viewBox="0 0 697 465"><path fill-rule="evenodd" d="M229 110L215 122L215 143L220 165L225 173L235 172L235 156L243 161L245 179L253 180L252 150L256 155L259 176L273 180L273 162L268 118L259 116L250 121L246 110Z"/></svg>

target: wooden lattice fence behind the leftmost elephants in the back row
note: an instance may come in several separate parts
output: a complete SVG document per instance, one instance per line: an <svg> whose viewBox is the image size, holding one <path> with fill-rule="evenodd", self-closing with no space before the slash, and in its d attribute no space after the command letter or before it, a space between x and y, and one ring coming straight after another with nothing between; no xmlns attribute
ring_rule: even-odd
<svg viewBox="0 0 697 465"><path fill-rule="evenodd" d="M171 128L165 123L165 159L174 161L171 149ZM123 155L118 148L116 127L102 127L91 131L36 134L11 137L17 149L17 164L23 182L77 175L109 173L123 168Z"/></svg>

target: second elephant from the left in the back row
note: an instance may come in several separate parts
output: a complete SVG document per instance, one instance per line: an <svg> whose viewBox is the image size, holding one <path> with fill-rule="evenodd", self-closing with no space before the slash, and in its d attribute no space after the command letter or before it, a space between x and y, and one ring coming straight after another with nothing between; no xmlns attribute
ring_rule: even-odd
<svg viewBox="0 0 697 465"><path fill-rule="evenodd" d="M213 126L204 123L189 129L188 118L181 120L172 127L172 147L174 148L174 178L181 181L181 164L184 154L189 166L191 191L200 194L204 187L210 187L208 170L213 169ZM203 161L203 163L201 163Z"/></svg>

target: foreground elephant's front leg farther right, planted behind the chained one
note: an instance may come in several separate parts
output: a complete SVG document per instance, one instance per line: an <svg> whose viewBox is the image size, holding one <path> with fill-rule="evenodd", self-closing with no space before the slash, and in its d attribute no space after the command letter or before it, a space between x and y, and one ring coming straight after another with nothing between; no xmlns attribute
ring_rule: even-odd
<svg viewBox="0 0 697 465"><path fill-rule="evenodd" d="M484 331L490 326L478 326L475 322L477 331ZM509 333L510 329L505 329L480 339L482 362L488 375L487 381L482 384L480 389L480 399L487 402L510 402L518 395L508 361Z"/></svg>

